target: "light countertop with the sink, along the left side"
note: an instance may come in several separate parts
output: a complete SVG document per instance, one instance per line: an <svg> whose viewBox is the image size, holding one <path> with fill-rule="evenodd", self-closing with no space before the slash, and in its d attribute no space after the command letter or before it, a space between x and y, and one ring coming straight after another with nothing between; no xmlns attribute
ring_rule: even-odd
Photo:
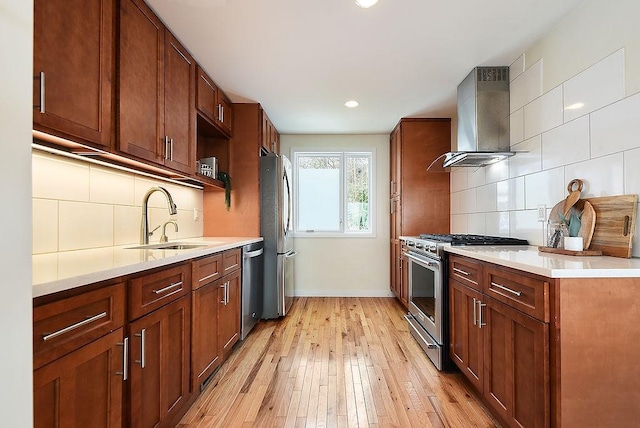
<svg viewBox="0 0 640 428"><path fill-rule="evenodd" d="M205 244L204 247L188 250L132 249L131 247L137 245L129 244L36 254L32 256L33 297L167 266L259 241L262 241L262 238L203 237L175 241Z"/></svg>

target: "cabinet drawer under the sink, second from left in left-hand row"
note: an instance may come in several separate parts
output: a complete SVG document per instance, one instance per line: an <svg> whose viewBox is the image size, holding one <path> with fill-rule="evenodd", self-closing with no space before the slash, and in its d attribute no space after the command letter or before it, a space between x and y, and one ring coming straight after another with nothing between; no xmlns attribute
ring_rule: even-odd
<svg viewBox="0 0 640 428"><path fill-rule="evenodd" d="M191 292L191 264L185 263L129 281L129 319L134 320Z"/></svg>

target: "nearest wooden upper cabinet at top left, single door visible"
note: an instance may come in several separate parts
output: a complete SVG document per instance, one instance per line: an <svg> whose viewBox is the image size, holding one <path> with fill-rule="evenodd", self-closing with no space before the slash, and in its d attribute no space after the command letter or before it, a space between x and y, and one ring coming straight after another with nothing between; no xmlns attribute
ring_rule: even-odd
<svg viewBox="0 0 640 428"><path fill-rule="evenodd" d="M114 0L35 0L34 129L111 146Z"/></svg>

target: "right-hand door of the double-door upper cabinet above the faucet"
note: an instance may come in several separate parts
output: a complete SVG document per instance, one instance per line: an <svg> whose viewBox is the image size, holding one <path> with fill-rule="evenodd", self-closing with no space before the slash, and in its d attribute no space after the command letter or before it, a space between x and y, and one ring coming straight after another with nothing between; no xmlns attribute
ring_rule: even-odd
<svg viewBox="0 0 640 428"><path fill-rule="evenodd" d="M189 52L169 32L165 34L164 135L165 165L192 174L196 161L195 73Z"/></svg>

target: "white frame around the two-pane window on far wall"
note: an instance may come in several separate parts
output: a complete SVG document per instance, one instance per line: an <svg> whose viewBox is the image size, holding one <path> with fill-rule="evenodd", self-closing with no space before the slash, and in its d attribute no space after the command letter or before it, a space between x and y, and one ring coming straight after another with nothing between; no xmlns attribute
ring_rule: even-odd
<svg viewBox="0 0 640 428"><path fill-rule="evenodd" d="M298 206L298 156L340 156L340 230L337 231L309 231L299 230L300 219ZM346 192L346 159L348 156L366 156L369 158L369 230L348 231L345 230L347 216L347 192ZM293 170L293 236L304 238L375 238L376 237L376 149L375 147L356 148L292 148L291 163Z"/></svg>

